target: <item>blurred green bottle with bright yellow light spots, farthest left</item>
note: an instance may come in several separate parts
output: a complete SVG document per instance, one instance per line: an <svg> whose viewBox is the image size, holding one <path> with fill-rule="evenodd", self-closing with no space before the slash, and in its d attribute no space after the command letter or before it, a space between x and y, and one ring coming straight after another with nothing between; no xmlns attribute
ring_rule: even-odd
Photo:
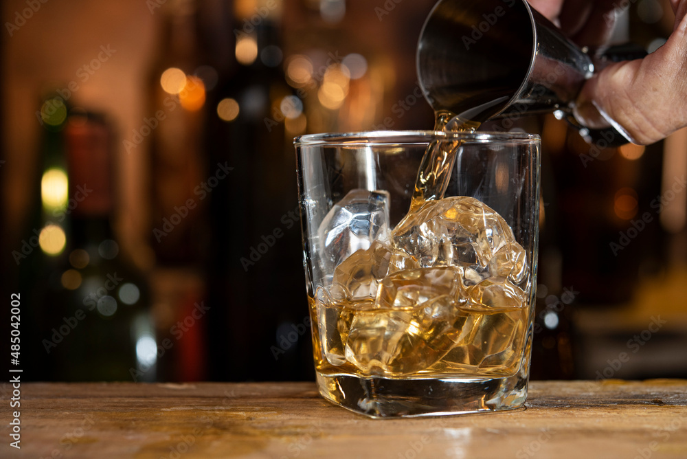
<svg viewBox="0 0 687 459"><path fill-rule="evenodd" d="M23 303L24 322L35 326L22 327L22 365L25 378L51 381L56 378L56 361L42 339L54 341L50 328L61 320L58 309L48 307L52 292L60 290L59 267L68 264L64 246L68 221L58 221L69 200L67 152L64 127L67 124L67 104L56 94L41 100L36 112L41 124L38 164L30 186L34 199L27 225L21 232L21 243L15 243L12 258L19 271L19 295ZM45 188L46 196L42 196ZM42 242L42 244L41 244ZM70 328L71 330L71 328ZM28 367L28 368L27 368Z"/></svg>

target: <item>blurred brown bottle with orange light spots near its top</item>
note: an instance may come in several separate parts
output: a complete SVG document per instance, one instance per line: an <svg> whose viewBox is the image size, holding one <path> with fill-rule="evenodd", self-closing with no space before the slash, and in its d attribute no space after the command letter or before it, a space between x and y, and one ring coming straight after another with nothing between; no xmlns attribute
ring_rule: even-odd
<svg viewBox="0 0 687 459"><path fill-rule="evenodd" d="M165 380L205 379L207 320L198 311L206 300L202 270L214 251L208 198L226 172L208 166L203 129L207 98L222 65L218 56L225 55L217 35L226 28L225 8L219 0L169 0L159 9L161 43L148 91L148 120L154 125L149 126L150 245L157 262L153 300L159 339L173 344L159 361Z"/></svg>

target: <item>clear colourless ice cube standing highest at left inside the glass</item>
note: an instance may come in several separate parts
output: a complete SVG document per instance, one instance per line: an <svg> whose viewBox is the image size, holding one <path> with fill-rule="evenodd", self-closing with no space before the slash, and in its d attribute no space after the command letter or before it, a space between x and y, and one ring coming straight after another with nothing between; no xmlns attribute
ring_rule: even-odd
<svg viewBox="0 0 687 459"><path fill-rule="evenodd" d="M317 229L319 279L328 285L328 276L355 251L368 249L373 240L388 240L389 193L350 190L326 214Z"/></svg>

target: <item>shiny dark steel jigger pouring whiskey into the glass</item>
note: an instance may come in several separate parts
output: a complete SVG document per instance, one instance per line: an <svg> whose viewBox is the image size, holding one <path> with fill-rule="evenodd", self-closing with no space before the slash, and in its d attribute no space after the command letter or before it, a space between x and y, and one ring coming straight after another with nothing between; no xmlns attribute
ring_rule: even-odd
<svg viewBox="0 0 687 459"><path fill-rule="evenodd" d="M603 133L627 143L613 128L576 122L572 104L594 74L592 57L525 0L440 0L420 32L417 67L436 111L477 122L553 111L589 140Z"/></svg>

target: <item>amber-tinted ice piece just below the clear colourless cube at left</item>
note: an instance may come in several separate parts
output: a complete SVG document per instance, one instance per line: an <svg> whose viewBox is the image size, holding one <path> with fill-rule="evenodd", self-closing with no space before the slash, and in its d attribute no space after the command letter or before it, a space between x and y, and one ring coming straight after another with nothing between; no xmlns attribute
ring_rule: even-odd
<svg viewBox="0 0 687 459"><path fill-rule="evenodd" d="M417 267L412 257L375 240L369 249L354 252L337 266L333 284L346 291L350 300L374 300L387 273L411 267Z"/></svg>

